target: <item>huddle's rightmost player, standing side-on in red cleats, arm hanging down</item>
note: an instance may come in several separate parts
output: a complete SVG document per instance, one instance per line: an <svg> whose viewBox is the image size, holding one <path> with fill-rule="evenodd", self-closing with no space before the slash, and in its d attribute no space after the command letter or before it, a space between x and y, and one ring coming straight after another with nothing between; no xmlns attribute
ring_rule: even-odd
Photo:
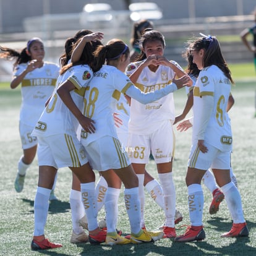
<svg viewBox="0 0 256 256"><path fill-rule="evenodd" d="M194 87L193 129L196 139L192 142L186 176L191 226L174 241L205 239L202 223L203 190L200 183L208 168L213 171L233 219L231 231L221 237L248 236L241 196L231 182L229 171L232 131L227 107L231 83L234 81L215 36L202 35L191 43L193 62L200 70Z"/></svg>

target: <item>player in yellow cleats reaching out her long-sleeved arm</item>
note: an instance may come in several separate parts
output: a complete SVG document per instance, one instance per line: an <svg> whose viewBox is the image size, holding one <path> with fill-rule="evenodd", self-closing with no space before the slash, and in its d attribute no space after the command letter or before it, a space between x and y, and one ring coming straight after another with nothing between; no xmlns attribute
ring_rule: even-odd
<svg viewBox="0 0 256 256"><path fill-rule="evenodd" d="M95 121L95 133L82 130L81 142L92 168L100 171L108 182L105 198L107 244L127 244L130 241L133 243L152 242L163 237L163 232L148 232L140 228L138 179L126 151L122 150L121 143L117 138L112 99L118 100L119 94L125 93L146 104L176 90L174 83L180 88L190 82L189 76L184 75L179 80L173 80L174 83L161 90L144 94L123 73L129 64L129 54L129 47L121 40L111 40L108 45L99 46L95 52L94 70L96 72L85 92L83 114ZM103 65L105 60L107 65ZM120 179L125 186L124 200L132 231L130 240L118 236L116 233ZM88 188L87 194L83 196L86 201L95 198L94 186ZM94 225L96 226L96 220Z"/></svg>

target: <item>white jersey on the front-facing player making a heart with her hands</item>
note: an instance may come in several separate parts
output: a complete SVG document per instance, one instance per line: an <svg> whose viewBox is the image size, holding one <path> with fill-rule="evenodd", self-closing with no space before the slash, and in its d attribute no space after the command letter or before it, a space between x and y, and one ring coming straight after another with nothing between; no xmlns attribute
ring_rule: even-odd
<svg viewBox="0 0 256 256"><path fill-rule="evenodd" d="M172 61L177 67L182 69L177 62ZM126 69L129 76L140 66L142 61L130 63ZM152 72L145 67L137 82L136 87L142 92L154 92L166 87L172 82L174 71L167 66L159 66L156 72ZM164 120L174 121L174 100L173 93L169 93L160 100L143 105L132 99L130 105L129 132L134 134L151 134L159 128L159 122Z"/></svg>

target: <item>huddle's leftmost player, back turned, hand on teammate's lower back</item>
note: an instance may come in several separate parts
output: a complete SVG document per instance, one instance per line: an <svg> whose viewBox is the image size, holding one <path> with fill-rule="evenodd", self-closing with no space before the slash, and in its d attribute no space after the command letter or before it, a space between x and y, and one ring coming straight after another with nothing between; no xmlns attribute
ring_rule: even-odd
<svg viewBox="0 0 256 256"><path fill-rule="evenodd" d="M101 44L97 38L91 36L91 42L85 45L79 61L62 67L56 91L33 130L33 135L38 136L39 140L39 179L34 203L35 228L32 250L62 246L45 238L49 191L57 170L68 166L79 179L82 191L84 184L95 181L95 174L90 168L84 148L77 139L79 123L89 132L94 130L93 121L82 114L75 116L73 113L74 109L82 108L85 88L93 77L93 70L89 64L93 62L93 51ZM64 100L68 102L67 105L63 103ZM83 205L93 208L93 205L87 205L86 202L83 202ZM105 241L106 232L101 231L98 226L95 230L89 231L89 239L95 234L100 234L101 239Z"/></svg>

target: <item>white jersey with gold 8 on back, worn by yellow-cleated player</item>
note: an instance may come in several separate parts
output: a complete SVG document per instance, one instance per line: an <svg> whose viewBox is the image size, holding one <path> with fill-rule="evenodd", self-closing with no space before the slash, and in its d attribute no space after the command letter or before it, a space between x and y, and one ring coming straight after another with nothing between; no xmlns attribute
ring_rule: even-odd
<svg viewBox="0 0 256 256"><path fill-rule="evenodd" d="M104 65L95 72L90 85L85 91L83 114L95 120L95 133L81 132L81 142L86 147L89 143L109 135L117 137L113 113L116 111L114 100L119 100L121 92L125 93L132 85L128 77L116 67Z"/></svg>

